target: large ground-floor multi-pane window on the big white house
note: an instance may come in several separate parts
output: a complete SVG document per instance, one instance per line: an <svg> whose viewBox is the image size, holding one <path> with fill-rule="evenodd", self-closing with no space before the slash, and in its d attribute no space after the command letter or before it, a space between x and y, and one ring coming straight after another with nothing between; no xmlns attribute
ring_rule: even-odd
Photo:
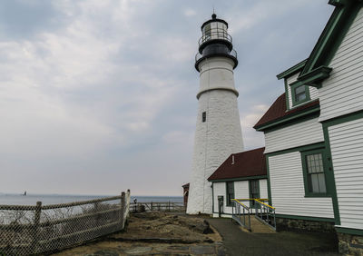
<svg viewBox="0 0 363 256"><path fill-rule="evenodd" d="M324 150L301 153L305 196L328 196Z"/></svg>

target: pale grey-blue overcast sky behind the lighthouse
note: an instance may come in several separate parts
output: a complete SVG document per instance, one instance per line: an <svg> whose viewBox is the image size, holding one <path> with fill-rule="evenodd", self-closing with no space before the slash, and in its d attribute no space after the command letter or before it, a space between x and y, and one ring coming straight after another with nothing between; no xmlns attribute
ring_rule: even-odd
<svg viewBox="0 0 363 256"><path fill-rule="evenodd" d="M0 192L182 195L201 24L230 24L245 149L309 56L328 0L2 0Z"/></svg>

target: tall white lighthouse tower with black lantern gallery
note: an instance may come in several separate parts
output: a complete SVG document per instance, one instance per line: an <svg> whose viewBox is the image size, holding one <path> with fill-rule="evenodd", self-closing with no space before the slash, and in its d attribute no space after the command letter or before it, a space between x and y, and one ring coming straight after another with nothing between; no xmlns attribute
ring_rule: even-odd
<svg viewBox="0 0 363 256"><path fill-rule="evenodd" d="M239 93L233 78L233 70L238 64L237 53L227 30L227 22L215 14L201 25L199 53L195 57L200 88L187 206L189 214L211 214L211 182L207 179L231 153L243 151L237 105Z"/></svg>

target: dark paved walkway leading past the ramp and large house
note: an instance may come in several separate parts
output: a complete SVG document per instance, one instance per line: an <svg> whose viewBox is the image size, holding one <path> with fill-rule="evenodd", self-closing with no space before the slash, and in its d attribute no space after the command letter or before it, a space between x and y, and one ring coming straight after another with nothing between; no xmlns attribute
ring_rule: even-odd
<svg viewBox="0 0 363 256"><path fill-rule="evenodd" d="M221 233L227 255L339 255L332 233L249 233L231 219L206 220Z"/></svg>

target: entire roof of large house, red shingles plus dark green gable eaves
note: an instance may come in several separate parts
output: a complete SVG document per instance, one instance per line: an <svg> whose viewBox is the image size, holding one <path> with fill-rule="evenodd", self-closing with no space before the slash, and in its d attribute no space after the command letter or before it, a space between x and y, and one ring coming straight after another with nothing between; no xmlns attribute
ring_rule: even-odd
<svg viewBox="0 0 363 256"><path fill-rule="evenodd" d="M363 7L363 1L329 0L329 5L335 5L336 7L329 18L328 24L320 34L319 40L315 44L309 58L278 74L279 79L301 70L296 83L308 84L319 88L319 83L329 77L331 68L328 65L338 50L338 46L341 44L345 34L347 34L348 28L358 15L360 8ZM319 111L319 101L307 103L287 111L286 96L282 94L253 128L263 131L276 124L286 123L297 116L317 111Z"/></svg>

